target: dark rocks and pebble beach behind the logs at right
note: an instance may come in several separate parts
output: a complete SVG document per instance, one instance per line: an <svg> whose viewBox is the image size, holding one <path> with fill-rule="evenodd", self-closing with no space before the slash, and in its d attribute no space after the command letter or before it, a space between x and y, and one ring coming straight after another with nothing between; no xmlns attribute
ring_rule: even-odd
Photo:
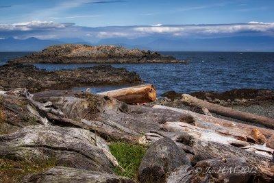
<svg viewBox="0 0 274 183"><path fill-rule="evenodd" d="M190 93L190 95L192 95L193 97L197 97L198 99L208 101L210 103L216 103L220 106L229 107L232 109L240 110L242 112L250 112L252 114L258 114L264 117L274 119L274 90L242 88L228 90L220 93L200 91ZM170 106L173 108L180 108L203 114L201 108L197 108L195 106L188 106L186 105L186 103L181 101L181 99L182 93L168 91L162 94L161 98L151 103L151 105L158 104ZM237 119L223 117L218 114L212 114L214 117L218 117L220 119L238 121L239 123L247 123L246 121L239 121Z"/></svg>

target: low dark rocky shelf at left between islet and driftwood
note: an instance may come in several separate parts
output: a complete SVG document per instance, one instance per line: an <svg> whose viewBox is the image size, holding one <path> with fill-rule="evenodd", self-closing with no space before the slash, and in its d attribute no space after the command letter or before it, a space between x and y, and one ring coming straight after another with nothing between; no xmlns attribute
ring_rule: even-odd
<svg viewBox="0 0 274 183"><path fill-rule="evenodd" d="M139 84L140 82L140 77L135 72L112 66L92 66L62 71L45 71L25 64L0 66L0 86L3 90L27 88L31 92L38 92L76 86Z"/></svg>

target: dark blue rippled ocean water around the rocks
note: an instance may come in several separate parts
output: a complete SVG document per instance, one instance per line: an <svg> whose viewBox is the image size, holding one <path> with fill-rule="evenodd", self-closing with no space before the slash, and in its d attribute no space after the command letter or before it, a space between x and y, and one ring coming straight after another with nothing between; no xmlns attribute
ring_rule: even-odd
<svg viewBox="0 0 274 183"><path fill-rule="evenodd" d="M112 64L135 71L145 83L155 85L158 93L168 90L191 93L201 90L225 91L233 88L274 89L274 53L251 52L161 52L188 60L188 64ZM0 64L26 52L0 53ZM35 64L48 71L75 69L97 64ZM101 92L124 86L86 86L73 88Z"/></svg>

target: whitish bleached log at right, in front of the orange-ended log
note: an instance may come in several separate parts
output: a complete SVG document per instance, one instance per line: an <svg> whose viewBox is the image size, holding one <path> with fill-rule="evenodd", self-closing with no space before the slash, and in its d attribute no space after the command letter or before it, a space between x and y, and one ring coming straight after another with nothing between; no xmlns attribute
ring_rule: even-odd
<svg viewBox="0 0 274 183"><path fill-rule="evenodd" d="M255 169L254 178L261 182L274 180L274 163L270 151L273 149L262 145L242 143L234 138L220 136L198 127L184 123L168 122L162 125L162 130L177 133L178 143L191 149L195 160L208 160L212 158L242 158L250 169ZM181 132L181 134L179 134Z"/></svg>

